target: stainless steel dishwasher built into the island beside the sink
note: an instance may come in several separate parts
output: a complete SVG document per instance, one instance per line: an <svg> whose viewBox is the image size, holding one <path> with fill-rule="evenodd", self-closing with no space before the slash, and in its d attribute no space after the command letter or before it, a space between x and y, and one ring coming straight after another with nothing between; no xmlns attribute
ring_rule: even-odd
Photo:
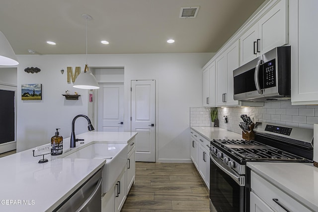
<svg viewBox="0 0 318 212"><path fill-rule="evenodd" d="M101 171L99 169L53 212L100 212Z"/></svg>

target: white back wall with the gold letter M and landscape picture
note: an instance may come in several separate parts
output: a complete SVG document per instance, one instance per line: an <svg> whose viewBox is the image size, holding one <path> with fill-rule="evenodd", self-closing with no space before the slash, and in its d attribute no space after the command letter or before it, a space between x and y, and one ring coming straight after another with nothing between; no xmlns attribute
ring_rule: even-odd
<svg viewBox="0 0 318 212"><path fill-rule="evenodd" d="M132 79L156 79L157 158L159 162L189 162L189 107L201 106L202 67L212 58L209 53L88 55L91 67L124 67L125 131L130 131L130 82ZM17 150L47 143L55 128L65 138L79 113L87 114L88 92L75 89L66 81L68 66L81 66L84 55L19 55L18 87L22 83L42 83L43 100L18 100ZM38 67L39 73L25 73L26 67ZM60 70L64 69L62 75ZM96 71L96 70L95 70ZM78 101L64 100L65 90L78 91ZM18 95L21 95L19 91ZM82 121L82 123L78 123ZM78 120L76 134L87 131L85 120ZM65 144L68 145L68 144Z"/></svg>

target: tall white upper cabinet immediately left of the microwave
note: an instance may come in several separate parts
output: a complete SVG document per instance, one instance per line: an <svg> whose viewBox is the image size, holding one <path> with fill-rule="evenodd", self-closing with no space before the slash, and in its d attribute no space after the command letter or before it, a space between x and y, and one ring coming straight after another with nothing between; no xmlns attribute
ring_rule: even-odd
<svg viewBox="0 0 318 212"><path fill-rule="evenodd" d="M217 106L237 106L233 99L233 71L239 68L239 41L216 59Z"/></svg>

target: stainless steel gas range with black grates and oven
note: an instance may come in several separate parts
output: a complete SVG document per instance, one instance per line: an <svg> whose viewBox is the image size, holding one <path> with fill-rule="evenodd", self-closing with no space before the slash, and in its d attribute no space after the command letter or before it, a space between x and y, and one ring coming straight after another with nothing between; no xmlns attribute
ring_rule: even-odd
<svg viewBox="0 0 318 212"><path fill-rule="evenodd" d="M211 141L211 212L249 212L250 170L246 162L313 160L313 129L256 123L254 134L251 141Z"/></svg>

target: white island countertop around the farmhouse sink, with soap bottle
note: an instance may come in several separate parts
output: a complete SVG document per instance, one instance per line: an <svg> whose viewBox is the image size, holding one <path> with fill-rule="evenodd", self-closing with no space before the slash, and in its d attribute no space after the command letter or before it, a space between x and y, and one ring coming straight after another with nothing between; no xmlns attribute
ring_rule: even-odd
<svg viewBox="0 0 318 212"><path fill-rule="evenodd" d="M137 133L87 132L76 136L84 143L92 141L128 143ZM75 148L77 148L75 147ZM63 140L63 153L73 151L70 138ZM38 163L33 148L0 158L0 211L52 212L98 169L105 159L71 159L47 154L49 161Z"/></svg>

